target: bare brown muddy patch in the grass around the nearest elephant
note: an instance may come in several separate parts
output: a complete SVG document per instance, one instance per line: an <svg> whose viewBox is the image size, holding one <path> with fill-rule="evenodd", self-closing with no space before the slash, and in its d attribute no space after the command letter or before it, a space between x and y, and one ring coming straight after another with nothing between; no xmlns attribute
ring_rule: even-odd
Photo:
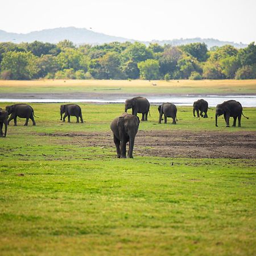
<svg viewBox="0 0 256 256"><path fill-rule="evenodd" d="M72 137L68 144L114 147L112 133L52 133L42 136ZM65 141L60 140L61 143ZM114 147L115 148L115 147ZM181 158L256 159L256 133L138 131L134 156L163 156Z"/></svg>

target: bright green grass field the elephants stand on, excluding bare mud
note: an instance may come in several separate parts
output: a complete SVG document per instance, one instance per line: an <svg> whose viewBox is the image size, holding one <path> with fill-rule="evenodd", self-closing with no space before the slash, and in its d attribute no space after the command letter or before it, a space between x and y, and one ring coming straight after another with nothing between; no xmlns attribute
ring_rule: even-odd
<svg viewBox="0 0 256 256"><path fill-rule="evenodd" d="M84 124L60 122L60 104L30 105L36 126L18 119L0 138L1 255L256 254L255 161L116 159L114 144L44 134L109 131L122 104L80 104ZM224 119L214 127L214 110L197 119L189 107L178 107L176 126L158 125L152 106L140 129L228 130L235 137L256 131L255 110L245 108L250 119L227 129Z"/></svg>

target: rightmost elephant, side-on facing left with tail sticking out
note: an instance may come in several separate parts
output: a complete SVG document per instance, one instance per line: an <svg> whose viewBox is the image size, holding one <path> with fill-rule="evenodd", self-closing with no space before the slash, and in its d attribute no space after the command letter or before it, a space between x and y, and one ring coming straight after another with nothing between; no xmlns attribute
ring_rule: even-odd
<svg viewBox="0 0 256 256"><path fill-rule="evenodd" d="M233 126L236 127L236 121L238 118L238 127L241 127L241 116L243 115L243 108L240 102L230 100L230 101L224 101L222 104L218 104L216 106L216 114L215 114L215 125L217 125L218 117L220 115L224 114L224 119L226 121L226 127L229 127L229 118L233 117L234 122ZM249 119L249 117L246 117L243 115L245 118Z"/></svg>

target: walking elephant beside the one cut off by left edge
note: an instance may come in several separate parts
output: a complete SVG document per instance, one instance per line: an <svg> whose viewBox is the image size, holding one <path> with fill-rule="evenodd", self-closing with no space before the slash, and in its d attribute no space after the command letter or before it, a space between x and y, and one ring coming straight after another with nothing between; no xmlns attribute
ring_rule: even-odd
<svg viewBox="0 0 256 256"><path fill-rule="evenodd" d="M14 126L17 125L17 117L20 118L26 118L26 122L24 126L27 126L28 119L31 119L33 122L33 125L35 125L34 117L34 110L30 105L27 104L14 104L11 106L6 106L5 110L8 112L10 118L8 119L8 125L12 119L14 119Z"/></svg>

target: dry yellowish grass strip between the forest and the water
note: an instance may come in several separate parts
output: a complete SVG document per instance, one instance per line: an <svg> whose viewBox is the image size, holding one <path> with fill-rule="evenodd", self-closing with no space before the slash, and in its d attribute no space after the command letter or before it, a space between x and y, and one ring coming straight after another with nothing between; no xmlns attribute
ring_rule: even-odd
<svg viewBox="0 0 256 256"><path fill-rule="evenodd" d="M153 86L155 84L156 86ZM0 93L255 94L256 80L0 80Z"/></svg>

